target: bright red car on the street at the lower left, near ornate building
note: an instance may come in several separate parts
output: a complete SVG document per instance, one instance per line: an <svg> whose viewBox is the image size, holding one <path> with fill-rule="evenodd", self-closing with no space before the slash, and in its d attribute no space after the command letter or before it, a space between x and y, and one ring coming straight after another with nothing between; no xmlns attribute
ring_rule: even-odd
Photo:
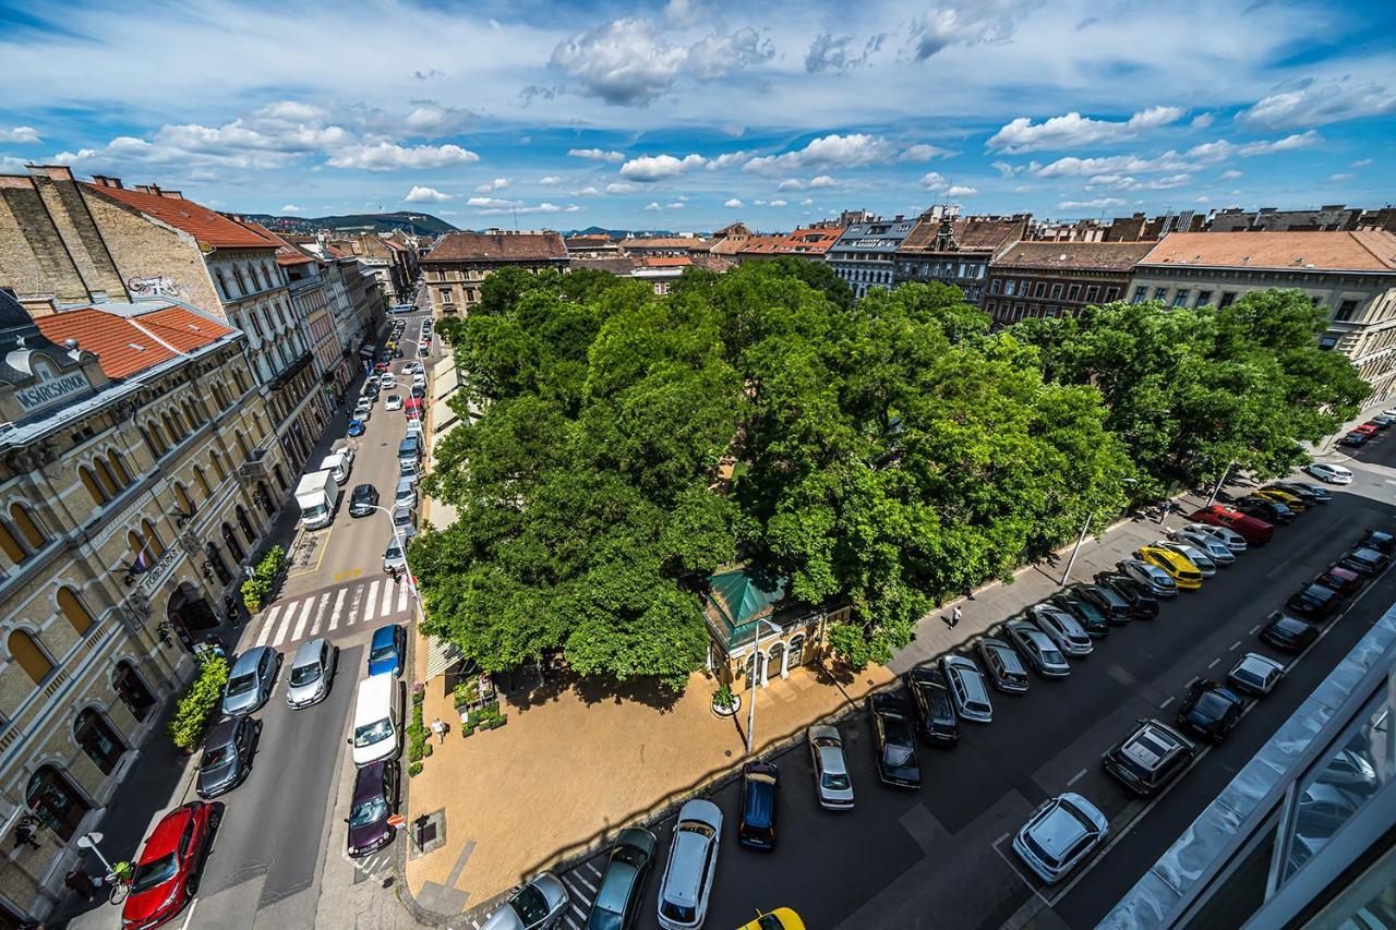
<svg viewBox="0 0 1396 930"><path fill-rule="evenodd" d="M221 818L222 810L204 802L165 814L135 860L131 892L121 908L123 930L162 924L194 899L204 853Z"/></svg>

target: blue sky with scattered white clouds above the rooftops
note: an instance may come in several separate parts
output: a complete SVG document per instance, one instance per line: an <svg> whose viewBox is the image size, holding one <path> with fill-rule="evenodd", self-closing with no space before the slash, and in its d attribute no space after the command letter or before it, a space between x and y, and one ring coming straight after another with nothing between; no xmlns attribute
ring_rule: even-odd
<svg viewBox="0 0 1396 930"><path fill-rule="evenodd" d="M462 228L1381 205L1389 0L0 0L0 172Z"/></svg>

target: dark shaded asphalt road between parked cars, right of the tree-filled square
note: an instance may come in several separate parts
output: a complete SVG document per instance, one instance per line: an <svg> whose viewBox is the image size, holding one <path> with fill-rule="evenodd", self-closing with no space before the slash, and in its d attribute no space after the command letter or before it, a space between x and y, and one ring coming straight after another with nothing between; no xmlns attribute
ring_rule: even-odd
<svg viewBox="0 0 1396 930"><path fill-rule="evenodd" d="M775 761L782 774L779 849L736 843L738 790L712 800L726 818L708 926L738 926L757 908L794 908L818 927L1092 927L1210 803L1304 697L1396 600L1396 573L1361 593L1300 658L1262 647L1266 614L1339 559L1372 524L1396 524L1390 504L1396 430L1361 450L1358 472L1332 504L1304 514L1275 540L1182 592L1154 621L1114 628L1092 656L1072 660L1062 681L1034 677L1027 695L994 695L994 722L962 723L953 750L921 748L920 790L881 785L866 712L839 725L857 792L852 813L819 810L808 750ZM1244 493L1244 489L1231 489ZM1180 524L1177 518L1170 525ZM1224 677L1244 652L1290 663L1279 690L1252 702L1220 747L1209 750L1156 803L1129 799L1100 768L1101 754L1143 716L1171 721L1195 677ZM1110 818L1108 846L1061 885L1047 888L1018 862L1009 842L1043 799L1075 790ZM641 927L653 927L673 818L659 827L660 856ZM595 898L604 855L565 873L579 926Z"/></svg>

